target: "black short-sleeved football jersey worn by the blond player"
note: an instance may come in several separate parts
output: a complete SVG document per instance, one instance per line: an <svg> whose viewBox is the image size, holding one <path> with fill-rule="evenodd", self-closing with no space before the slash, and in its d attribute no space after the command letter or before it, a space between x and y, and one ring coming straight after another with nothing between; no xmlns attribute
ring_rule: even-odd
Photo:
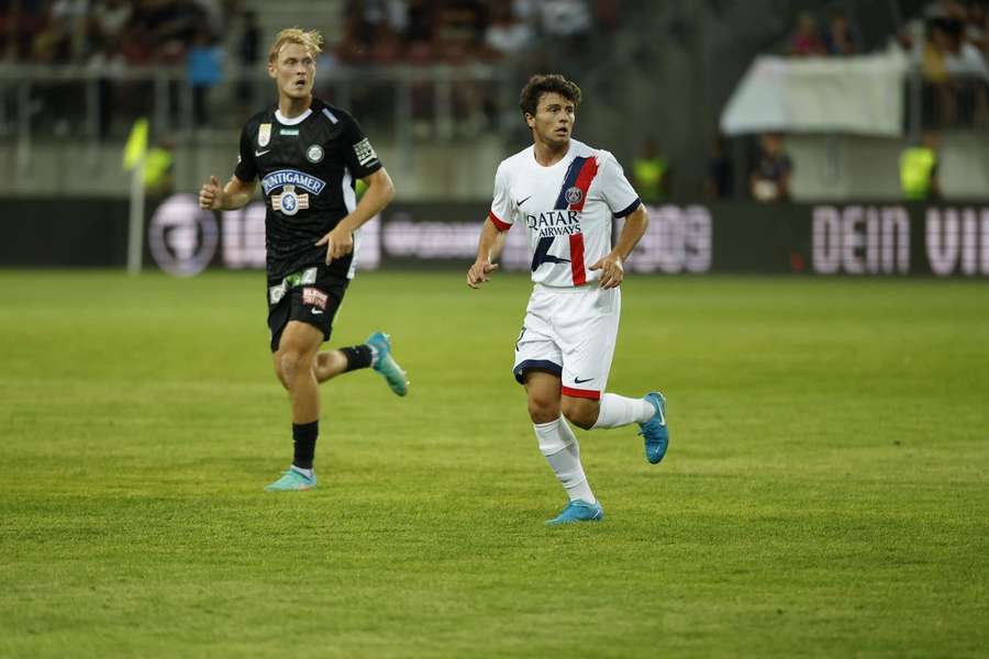
<svg viewBox="0 0 989 659"><path fill-rule="evenodd" d="M244 125L234 171L245 182L259 179L273 281L325 260L326 247L316 247L316 241L356 208L356 179L381 168L360 125L345 111L315 98L308 112L291 120L277 110L273 105ZM356 245L355 237L355 252ZM334 259L331 272L353 277L353 259L354 254Z"/></svg>

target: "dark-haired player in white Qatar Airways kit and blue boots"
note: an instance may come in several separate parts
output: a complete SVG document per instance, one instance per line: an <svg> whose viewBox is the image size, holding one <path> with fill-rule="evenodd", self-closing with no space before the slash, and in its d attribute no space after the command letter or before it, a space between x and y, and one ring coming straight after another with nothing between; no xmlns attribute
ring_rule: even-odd
<svg viewBox="0 0 989 659"><path fill-rule="evenodd" d="M529 231L532 297L515 344L515 379L525 386L540 450L569 495L547 524L602 520L570 423L584 428L641 427L646 459L663 459L669 442L666 400L605 393L621 314L622 260L648 225L645 208L607 150L573 139L580 88L558 75L533 76L520 105L533 145L502 160L494 200L467 284L478 288L498 266L504 234ZM612 247L612 219L625 225ZM563 413L563 414L560 414Z"/></svg>

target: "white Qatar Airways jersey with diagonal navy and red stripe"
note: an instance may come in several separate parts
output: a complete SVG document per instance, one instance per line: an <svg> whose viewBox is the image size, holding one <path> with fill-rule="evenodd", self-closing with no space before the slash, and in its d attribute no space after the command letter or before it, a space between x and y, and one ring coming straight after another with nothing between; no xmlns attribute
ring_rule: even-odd
<svg viewBox="0 0 989 659"><path fill-rule="evenodd" d="M612 219L640 203L613 155L570 139L551 167L536 163L534 146L502 160L488 216L500 231L524 223L534 282L575 287L599 279L588 268L611 252Z"/></svg>

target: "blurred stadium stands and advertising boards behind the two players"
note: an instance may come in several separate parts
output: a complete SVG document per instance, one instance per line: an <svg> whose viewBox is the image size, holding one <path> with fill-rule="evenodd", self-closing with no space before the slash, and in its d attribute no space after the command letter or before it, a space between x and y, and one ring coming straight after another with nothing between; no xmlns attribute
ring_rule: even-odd
<svg viewBox="0 0 989 659"><path fill-rule="evenodd" d="M141 260L263 266L260 200L192 196L274 102L292 25L323 33L314 93L396 180L366 267L473 255L494 168L531 142L519 91L552 71L654 210L643 271L989 275L982 0L2 0L0 266L127 260L138 120Z"/></svg>

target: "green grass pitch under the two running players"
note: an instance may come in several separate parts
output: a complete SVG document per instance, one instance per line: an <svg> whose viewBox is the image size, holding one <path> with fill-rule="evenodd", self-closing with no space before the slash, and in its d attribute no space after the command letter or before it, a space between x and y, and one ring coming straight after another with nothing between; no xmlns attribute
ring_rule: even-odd
<svg viewBox="0 0 989 659"><path fill-rule="evenodd" d="M466 268L466 264L465 264ZM529 282L366 273L322 388L320 488L291 456L259 273L0 271L0 656L976 657L989 647L989 286L630 276L563 490L512 348Z"/></svg>

